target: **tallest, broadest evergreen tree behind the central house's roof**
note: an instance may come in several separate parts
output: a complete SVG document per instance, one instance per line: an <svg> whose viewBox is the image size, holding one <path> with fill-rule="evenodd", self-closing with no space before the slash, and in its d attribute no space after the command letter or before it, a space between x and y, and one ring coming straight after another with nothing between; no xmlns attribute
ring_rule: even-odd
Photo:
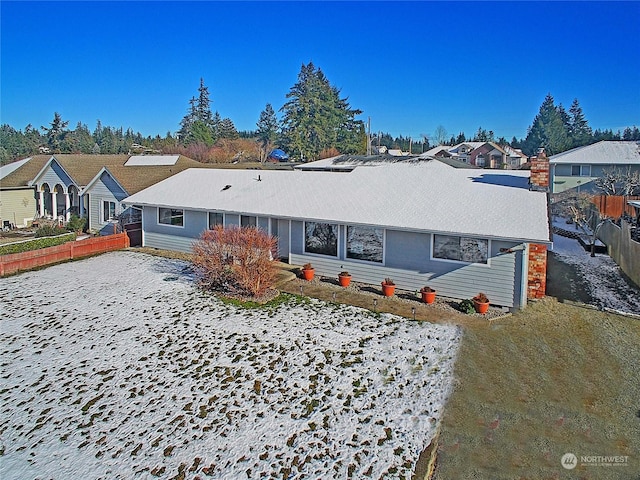
<svg viewBox="0 0 640 480"><path fill-rule="evenodd" d="M303 160L315 160L325 149L342 153L364 153L366 135L361 110L351 109L346 98L333 87L322 70L309 62L302 65L297 83L287 93L281 108L282 139L285 148Z"/></svg>

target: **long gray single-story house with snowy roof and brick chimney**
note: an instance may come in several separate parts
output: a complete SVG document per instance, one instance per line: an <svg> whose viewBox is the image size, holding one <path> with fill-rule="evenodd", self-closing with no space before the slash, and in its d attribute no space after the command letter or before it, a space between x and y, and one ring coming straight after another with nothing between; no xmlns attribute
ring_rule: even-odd
<svg viewBox="0 0 640 480"><path fill-rule="evenodd" d="M533 274L550 244L547 194L529 190L528 171L435 160L340 173L189 169L123 203L142 209L145 246L189 252L213 225L256 226L277 238L280 257L320 275L391 277L456 299L482 291L510 308L539 296Z"/></svg>

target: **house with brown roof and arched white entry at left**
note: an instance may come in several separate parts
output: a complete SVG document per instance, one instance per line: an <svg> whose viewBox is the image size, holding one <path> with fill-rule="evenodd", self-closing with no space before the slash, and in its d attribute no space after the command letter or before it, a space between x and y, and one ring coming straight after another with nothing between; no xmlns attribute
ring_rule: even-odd
<svg viewBox="0 0 640 480"><path fill-rule="evenodd" d="M35 155L2 178L2 196L4 201L8 189L29 190L31 219L69 220L77 214L87 216L88 228L99 231L122 213L123 198L202 166L180 155Z"/></svg>

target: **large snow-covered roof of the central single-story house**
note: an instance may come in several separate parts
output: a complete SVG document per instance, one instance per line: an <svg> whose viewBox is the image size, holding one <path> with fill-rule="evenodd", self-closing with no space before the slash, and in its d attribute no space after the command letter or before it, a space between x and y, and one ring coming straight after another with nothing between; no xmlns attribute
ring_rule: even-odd
<svg viewBox="0 0 640 480"><path fill-rule="evenodd" d="M547 197L528 177L435 160L350 173L188 169L124 203L548 242Z"/></svg>

